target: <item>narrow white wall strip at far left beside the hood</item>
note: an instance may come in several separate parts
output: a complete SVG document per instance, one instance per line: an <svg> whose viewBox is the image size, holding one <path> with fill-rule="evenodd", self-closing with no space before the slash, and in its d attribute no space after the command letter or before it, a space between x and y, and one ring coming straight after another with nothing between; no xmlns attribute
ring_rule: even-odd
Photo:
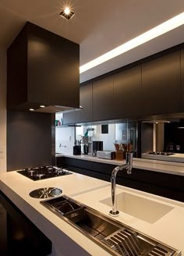
<svg viewBox="0 0 184 256"><path fill-rule="evenodd" d="M0 172L6 171L6 49L0 47Z"/></svg>

